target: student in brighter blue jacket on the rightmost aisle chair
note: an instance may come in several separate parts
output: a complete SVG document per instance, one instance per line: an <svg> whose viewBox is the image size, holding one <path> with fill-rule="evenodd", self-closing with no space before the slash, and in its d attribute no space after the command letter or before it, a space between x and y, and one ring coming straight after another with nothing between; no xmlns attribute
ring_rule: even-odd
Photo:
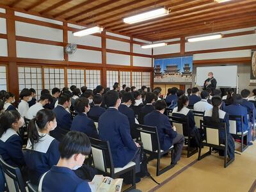
<svg viewBox="0 0 256 192"><path fill-rule="evenodd" d="M228 113L228 115L243 116L243 131L248 131L248 144L252 145L252 143L250 142L252 140L252 130L248 125L248 112L247 112L247 108L244 108L244 106L241 106L242 102L243 102L243 97L240 94L234 94L232 96L232 104L230 104L225 108L225 112ZM237 132L241 132L241 131L242 131L242 124L241 122L237 122Z"/></svg>

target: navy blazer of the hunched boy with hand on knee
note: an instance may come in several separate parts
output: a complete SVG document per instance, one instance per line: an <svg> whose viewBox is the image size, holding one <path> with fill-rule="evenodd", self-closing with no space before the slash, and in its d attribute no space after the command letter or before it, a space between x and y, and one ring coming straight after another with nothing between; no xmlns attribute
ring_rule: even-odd
<svg viewBox="0 0 256 192"><path fill-rule="evenodd" d="M144 125L157 127L161 150L167 150L172 146L173 138L177 136L177 132L173 131L168 116L154 110L144 117L143 122Z"/></svg>

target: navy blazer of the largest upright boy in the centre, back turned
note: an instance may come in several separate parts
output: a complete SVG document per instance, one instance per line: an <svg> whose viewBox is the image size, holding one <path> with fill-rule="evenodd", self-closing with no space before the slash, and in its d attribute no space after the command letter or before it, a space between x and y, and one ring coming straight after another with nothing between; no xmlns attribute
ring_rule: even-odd
<svg viewBox="0 0 256 192"><path fill-rule="evenodd" d="M115 108L109 108L99 118L99 138L109 141L115 168L132 161L138 148L130 134L127 116Z"/></svg>

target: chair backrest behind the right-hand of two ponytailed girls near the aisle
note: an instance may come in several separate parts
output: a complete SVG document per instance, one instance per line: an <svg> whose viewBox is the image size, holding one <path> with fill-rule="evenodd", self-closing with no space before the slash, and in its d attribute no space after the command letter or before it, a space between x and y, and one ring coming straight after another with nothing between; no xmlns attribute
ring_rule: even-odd
<svg viewBox="0 0 256 192"><path fill-rule="evenodd" d="M220 146L220 133L225 132L225 141L227 143L227 129L225 123L212 123L200 120L200 128L204 133L205 143Z"/></svg>

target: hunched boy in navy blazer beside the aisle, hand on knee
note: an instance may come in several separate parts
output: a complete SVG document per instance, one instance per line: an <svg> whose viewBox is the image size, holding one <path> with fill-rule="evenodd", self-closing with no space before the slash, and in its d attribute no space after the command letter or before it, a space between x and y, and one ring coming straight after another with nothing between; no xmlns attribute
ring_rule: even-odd
<svg viewBox="0 0 256 192"><path fill-rule="evenodd" d="M164 100L157 100L155 104L156 110L148 113L144 117L144 125L157 127L161 150L167 150L172 145L174 146L173 163L177 163L180 159L182 147L184 145L184 136L177 134L174 127L170 124L168 116L164 115L164 110L167 108Z"/></svg>

